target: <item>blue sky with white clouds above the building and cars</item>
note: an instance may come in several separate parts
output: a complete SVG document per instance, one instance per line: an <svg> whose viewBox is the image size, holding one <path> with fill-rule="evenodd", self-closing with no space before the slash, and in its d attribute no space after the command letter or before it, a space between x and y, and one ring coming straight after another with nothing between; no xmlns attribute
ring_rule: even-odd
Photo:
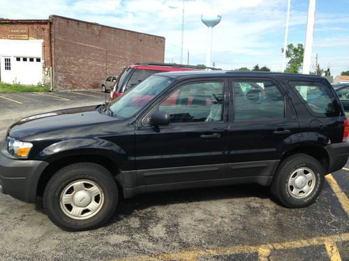
<svg viewBox="0 0 349 261"><path fill-rule="evenodd" d="M291 0L288 42L304 43L308 0ZM62 15L89 22L161 35L166 38L165 62L180 61L182 0L0 0L0 17L47 19ZM217 13L211 61L226 70L259 64L281 70L287 0L186 0L184 57L206 61L204 13ZM316 1L312 66L315 54L332 75L349 70L349 0ZM311 68L315 70L315 68Z"/></svg>

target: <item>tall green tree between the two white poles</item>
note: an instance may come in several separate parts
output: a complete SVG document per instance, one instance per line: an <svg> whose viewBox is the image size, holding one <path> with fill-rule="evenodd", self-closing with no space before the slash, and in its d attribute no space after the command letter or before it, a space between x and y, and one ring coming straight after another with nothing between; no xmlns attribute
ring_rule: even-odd
<svg viewBox="0 0 349 261"><path fill-rule="evenodd" d="M283 49L282 49L283 52ZM304 46L299 43L297 46L292 43L287 46L286 57L289 58L285 72L299 73L303 65Z"/></svg>

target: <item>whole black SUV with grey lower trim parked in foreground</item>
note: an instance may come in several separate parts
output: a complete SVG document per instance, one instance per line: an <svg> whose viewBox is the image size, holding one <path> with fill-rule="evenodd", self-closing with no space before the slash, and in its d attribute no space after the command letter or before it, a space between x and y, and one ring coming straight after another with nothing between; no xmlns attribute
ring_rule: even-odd
<svg viewBox="0 0 349 261"><path fill-rule="evenodd" d="M102 226L139 193L258 183L306 207L348 159L349 122L322 77L154 74L110 104L24 118L0 155L4 191L65 230Z"/></svg>

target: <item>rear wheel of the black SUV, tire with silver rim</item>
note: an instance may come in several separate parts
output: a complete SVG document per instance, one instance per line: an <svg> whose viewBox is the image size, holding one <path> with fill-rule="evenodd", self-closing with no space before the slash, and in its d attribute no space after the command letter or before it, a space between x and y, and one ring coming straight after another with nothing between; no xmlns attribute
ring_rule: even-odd
<svg viewBox="0 0 349 261"><path fill-rule="evenodd" d="M298 183L295 182L295 185L292 186L290 179L296 180L298 178L298 171L301 175L302 173L306 173L305 175L307 176L310 174L311 176L309 177L312 177L313 180L307 181L306 178L304 180L300 178ZM324 172L320 162L313 157L306 154L292 155L281 161L274 175L270 191L274 198L286 207L299 208L309 206L315 202L322 190ZM305 184L304 188L313 186L313 189L309 189L309 192L304 193L306 189L302 191L302 189L298 189L296 186L299 185L301 187L303 184ZM297 193L296 191L300 192Z"/></svg>

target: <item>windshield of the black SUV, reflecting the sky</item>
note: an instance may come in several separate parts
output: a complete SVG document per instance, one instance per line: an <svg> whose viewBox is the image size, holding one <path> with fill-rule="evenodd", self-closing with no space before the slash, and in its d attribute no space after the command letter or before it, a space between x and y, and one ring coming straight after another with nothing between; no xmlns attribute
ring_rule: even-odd
<svg viewBox="0 0 349 261"><path fill-rule="evenodd" d="M110 103L112 115L117 118L131 118L147 106L154 97L172 83L172 79L162 76L151 76L132 88L121 97Z"/></svg>

